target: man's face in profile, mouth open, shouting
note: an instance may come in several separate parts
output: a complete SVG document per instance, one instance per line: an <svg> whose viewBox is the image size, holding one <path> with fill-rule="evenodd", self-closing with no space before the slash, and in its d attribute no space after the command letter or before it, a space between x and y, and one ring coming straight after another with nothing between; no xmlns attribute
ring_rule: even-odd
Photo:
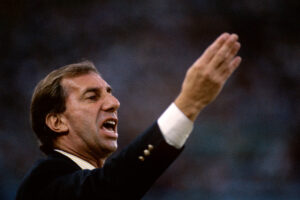
<svg viewBox="0 0 300 200"><path fill-rule="evenodd" d="M64 78L68 126L65 140L82 156L108 156L117 149L117 110L120 103L110 86L96 73Z"/></svg>

